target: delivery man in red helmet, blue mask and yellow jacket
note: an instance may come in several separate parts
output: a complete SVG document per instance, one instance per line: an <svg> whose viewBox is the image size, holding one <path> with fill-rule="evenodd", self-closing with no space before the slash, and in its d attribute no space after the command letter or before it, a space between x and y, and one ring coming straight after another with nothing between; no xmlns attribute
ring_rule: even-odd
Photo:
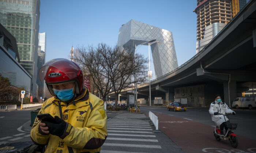
<svg viewBox="0 0 256 153"><path fill-rule="evenodd" d="M39 70L49 92L38 114L50 114L55 122L35 118L30 136L47 153L99 153L106 140L104 103L83 87L83 74L75 62L53 59Z"/></svg>

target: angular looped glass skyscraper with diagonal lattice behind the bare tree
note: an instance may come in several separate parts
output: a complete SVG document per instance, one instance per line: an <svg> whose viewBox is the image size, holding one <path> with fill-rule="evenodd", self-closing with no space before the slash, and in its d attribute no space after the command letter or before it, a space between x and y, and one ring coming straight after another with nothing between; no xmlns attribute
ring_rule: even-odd
<svg viewBox="0 0 256 153"><path fill-rule="evenodd" d="M172 32L130 20L120 27L117 45L132 48L134 52L135 44L138 46L153 39L161 42L151 45L155 74L160 77L178 67Z"/></svg>

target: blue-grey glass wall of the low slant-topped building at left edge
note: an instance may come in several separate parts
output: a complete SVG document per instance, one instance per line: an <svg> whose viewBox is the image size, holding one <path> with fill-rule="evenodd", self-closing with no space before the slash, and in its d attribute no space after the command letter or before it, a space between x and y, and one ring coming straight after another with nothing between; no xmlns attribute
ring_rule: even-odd
<svg viewBox="0 0 256 153"><path fill-rule="evenodd" d="M3 46L0 46L0 65L1 75L9 78L12 86L30 90L31 76Z"/></svg>

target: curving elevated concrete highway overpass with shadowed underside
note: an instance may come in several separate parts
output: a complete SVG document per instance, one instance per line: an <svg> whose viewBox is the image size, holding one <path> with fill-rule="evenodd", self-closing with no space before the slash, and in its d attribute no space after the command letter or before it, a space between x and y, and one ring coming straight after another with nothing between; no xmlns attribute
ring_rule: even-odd
<svg viewBox="0 0 256 153"><path fill-rule="evenodd" d="M256 0L249 1L202 51L151 81L151 104L154 97L162 97L166 104L175 98L187 106L208 107L214 95L221 94L230 106L249 87L256 87ZM132 91L125 89L121 96ZM139 85L138 98L148 95L149 83Z"/></svg>

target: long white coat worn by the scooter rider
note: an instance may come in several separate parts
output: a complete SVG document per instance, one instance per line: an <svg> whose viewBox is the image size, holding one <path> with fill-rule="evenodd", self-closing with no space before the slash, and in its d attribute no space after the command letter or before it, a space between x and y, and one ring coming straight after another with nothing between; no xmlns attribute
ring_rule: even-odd
<svg viewBox="0 0 256 153"><path fill-rule="evenodd" d="M215 101L215 102L211 103L211 106L209 109L209 113L211 114L211 119L212 119L212 121L214 121L217 124L217 126L220 126L221 123L225 122L224 116L223 115L214 115L214 112L218 112L218 113L226 115L226 114L231 114L234 111L231 110L226 105L225 102L218 103L217 101ZM226 118L226 121L229 120L226 116L225 116L225 118Z"/></svg>

